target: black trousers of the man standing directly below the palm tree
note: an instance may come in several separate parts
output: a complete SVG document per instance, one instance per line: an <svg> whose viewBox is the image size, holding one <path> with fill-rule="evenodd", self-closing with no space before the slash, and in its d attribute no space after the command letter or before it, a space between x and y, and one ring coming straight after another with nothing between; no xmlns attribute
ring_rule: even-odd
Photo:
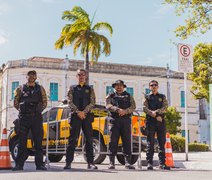
<svg viewBox="0 0 212 180"><path fill-rule="evenodd" d="M80 119L76 113L72 114L71 116L71 129L69 136L69 144L66 150L66 163L70 164L74 160L74 151L78 142L81 128L85 135L87 162L93 163L93 118L90 117L90 114L88 114L87 117L83 120Z"/></svg>

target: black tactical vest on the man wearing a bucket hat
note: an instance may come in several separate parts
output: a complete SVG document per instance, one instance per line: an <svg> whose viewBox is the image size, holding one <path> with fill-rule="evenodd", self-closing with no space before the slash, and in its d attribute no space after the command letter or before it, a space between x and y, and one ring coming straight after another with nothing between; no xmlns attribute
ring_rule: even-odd
<svg viewBox="0 0 212 180"><path fill-rule="evenodd" d="M112 93L110 94L111 97L111 104L113 106L117 106L120 109L127 109L131 106L130 103L130 94L126 91L124 91L122 94L118 95L117 93ZM111 112L112 117L117 118L119 117L118 113L116 112ZM130 116L130 115L125 115L126 116Z"/></svg>

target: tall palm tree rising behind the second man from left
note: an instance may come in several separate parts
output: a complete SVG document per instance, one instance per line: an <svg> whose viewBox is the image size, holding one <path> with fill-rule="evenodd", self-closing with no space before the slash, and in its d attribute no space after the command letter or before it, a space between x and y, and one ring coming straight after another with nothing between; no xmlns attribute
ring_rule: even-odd
<svg viewBox="0 0 212 180"><path fill-rule="evenodd" d="M81 55L85 57L84 69L89 73L89 55L92 63L97 62L101 53L109 56L111 52L111 45L108 39L99 34L100 30L109 31L112 36L113 29L109 23L98 22L92 25L95 17L90 20L88 13L79 6L75 6L71 11L64 11L62 19L70 21L61 31L60 38L55 43L56 49L63 49L63 47L73 46L74 55L80 49ZM89 74L88 80L89 83Z"/></svg>

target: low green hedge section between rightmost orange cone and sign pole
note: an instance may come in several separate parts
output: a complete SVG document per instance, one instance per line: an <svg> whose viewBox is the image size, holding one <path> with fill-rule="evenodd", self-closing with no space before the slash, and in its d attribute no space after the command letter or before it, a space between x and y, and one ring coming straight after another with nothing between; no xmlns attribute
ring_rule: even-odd
<svg viewBox="0 0 212 180"><path fill-rule="evenodd" d="M171 134L172 151L185 152L185 138Z"/></svg>

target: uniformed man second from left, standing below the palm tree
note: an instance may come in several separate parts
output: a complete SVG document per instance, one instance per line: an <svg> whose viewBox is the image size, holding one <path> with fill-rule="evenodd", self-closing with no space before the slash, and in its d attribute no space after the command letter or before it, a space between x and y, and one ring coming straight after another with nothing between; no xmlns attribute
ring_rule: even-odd
<svg viewBox="0 0 212 180"><path fill-rule="evenodd" d="M71 86L68 91L68 101L71 108L71 131L69 144L66 150L66 165L64 169L71 169L74 159L74 151L82 128L86 140L86 157L88 169L97 169L94 165L93 155L93 114L90 112L95 106L96 98L94 89L86 85L87 72L84 69L77 70L78 84Z"/></svg>

